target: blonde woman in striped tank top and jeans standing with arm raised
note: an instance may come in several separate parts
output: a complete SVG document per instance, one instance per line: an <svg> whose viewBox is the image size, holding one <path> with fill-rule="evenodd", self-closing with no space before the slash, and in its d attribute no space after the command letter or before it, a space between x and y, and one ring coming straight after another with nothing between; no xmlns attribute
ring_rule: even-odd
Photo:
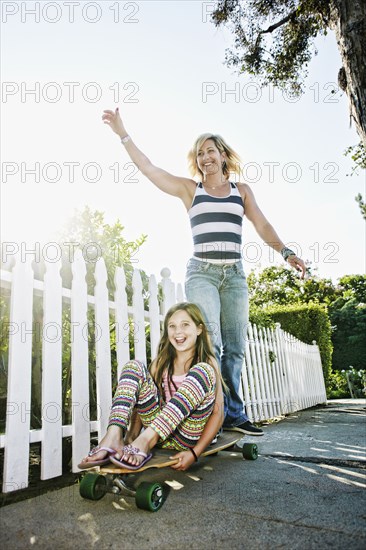
<svg viewBox="0 0 366 550"><path fill-rule="evenodd" d="M250 187L230 182L231 172L240 175L240 158L220 136L203 134L189 152L191 174L201 179L197 183L152 164L127 133L118 108L104 111L102 119L121 138L142 174L161 191L184 203L194 242L193 257L187 267L186 296L204 314L229 389L225 395L224 426L249 435L263 435L249 421L239 391L249 311L241 258L243 216L253 223L266 244L300 272L301 278L306 272L303 260L281 241L258 207Z"/></svg>

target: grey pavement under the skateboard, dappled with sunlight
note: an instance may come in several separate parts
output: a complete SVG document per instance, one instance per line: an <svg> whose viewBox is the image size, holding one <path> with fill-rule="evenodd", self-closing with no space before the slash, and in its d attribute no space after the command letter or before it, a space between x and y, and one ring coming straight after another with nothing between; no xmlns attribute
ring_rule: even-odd
<svg viewBox="0 0 366 550"><path fill-rule="evenodd" d="M206 457L187 472L149 470L170 494L156 513L72 485L4 506L3 549L366 548L366 400L328 401L265 426L260 455Z"/></svg>

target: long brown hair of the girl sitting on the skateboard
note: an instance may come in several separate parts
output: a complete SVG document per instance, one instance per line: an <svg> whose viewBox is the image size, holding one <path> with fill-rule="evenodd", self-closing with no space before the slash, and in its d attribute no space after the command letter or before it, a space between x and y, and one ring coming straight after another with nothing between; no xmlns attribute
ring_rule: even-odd
<svg viewBox="0 0 366 550"><path fill-rule="evenodd" d="M163 334L159 342L158 354L156 357L156 369L154 373L155 383L159 388L160 395L164 395L163 391L163 375L168 373L168 384L173 385L172 376L174 373L174 360L177 357L177 351L170 343L168 337L168 324L170 318L176 311L186 311L197 327L202 329L201 334L197 336L196 347L192 358L189 360L189 369L197 363L209 363L213 367L216 364L215 353L212 348L211 340L203 319L201 310L195 304L189 302L181 302L172 306L164 319ZM217 370L217 369L215 369ZM220 377L220 373L217 373ZM164 396L165 397L165 396Z"/></svg>

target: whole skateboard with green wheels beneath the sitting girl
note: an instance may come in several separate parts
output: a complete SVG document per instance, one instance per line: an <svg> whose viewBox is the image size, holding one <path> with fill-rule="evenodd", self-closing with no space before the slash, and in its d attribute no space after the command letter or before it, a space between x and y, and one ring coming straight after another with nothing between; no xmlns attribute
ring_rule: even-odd
<svg viewBox="0 0 366 550"><path fill-rule="evenodd" d="M244 437L243 433L224 431L216 443L211 444L201 454L201 457L216 455L220 451L233 450L241 453L247 460L256 460L258 447L255 443L244 443L243 447L236 447L236 443ZM168 487L160 482L142 481L136 489L127 484L128 476L136 475L152 468L165 468L177 464L178 459L169 458L176 453L174 449L154 449L154 456L144 466L137 470L130 470L114 464L96 466L92 473L87 473L79 485L80 495L89 500L99 500L106 493L135 497L136 506L142 510L156 512L159 510L168 494ZM200 457L200 458L201 458Z"/></svg>

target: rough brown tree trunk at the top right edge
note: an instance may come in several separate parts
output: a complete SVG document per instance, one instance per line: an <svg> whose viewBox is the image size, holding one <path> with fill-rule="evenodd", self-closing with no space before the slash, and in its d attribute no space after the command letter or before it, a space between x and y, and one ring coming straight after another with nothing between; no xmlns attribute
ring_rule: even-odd
<svg viewBox="0 0 366 550"><path fill-rule="evenodd" d="M340 87L346 92L358 135L366 147L366 2L332 0L330 28L342 58Z"/></svg>

